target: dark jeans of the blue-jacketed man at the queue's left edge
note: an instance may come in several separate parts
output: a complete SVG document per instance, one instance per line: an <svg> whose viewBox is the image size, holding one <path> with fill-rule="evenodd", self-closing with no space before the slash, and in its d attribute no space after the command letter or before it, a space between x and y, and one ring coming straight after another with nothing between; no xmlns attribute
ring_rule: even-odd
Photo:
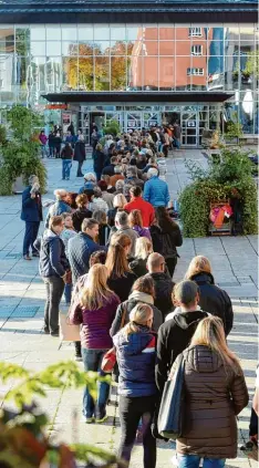
<svg viewBox="0 0 259 468"><path fill-rule="evenodd" d="M64 281L60 277L43 278L46 290L44 329L50 333L59 332L60 301L64 291Z"/></svg>

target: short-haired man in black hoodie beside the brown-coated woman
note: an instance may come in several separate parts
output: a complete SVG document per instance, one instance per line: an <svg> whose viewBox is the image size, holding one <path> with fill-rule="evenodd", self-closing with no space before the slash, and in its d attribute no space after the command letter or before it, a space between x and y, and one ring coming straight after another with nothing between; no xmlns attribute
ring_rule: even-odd
<svg viewBox="0 0 259 468"><path fill-rule="evenodd" d="M187 280L176 284L174 297L180 312L176 312L174 318L163 323L158 330L156 385L160 394L176 357L188 347L200 320L209 315L198 305L199 288L194 281Z"/></svg>

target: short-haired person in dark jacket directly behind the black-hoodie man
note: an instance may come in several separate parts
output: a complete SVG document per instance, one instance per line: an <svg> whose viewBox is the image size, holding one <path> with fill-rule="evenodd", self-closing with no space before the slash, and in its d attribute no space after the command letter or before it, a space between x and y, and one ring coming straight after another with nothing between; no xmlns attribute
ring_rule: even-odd
<svg viewBox="0 0 259 468"><path fill-rule="evenodd" d="M168 273L165 272L165 259L159 253L151 253L147 260L147 270L155 284L155 306L163 314L163 321L166 315L173 311L172 292L175 283Z"/></svg>

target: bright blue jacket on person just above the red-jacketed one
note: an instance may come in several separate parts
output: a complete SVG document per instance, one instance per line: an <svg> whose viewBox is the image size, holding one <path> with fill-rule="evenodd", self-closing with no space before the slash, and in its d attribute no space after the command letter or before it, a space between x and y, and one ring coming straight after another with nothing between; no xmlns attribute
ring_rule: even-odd
<svg viewBox="0 0 259 468"><path fill-rule="evenodd" d="M157 176L153 176L145 184L143 198L154 207L166 207L170 200L168 185Z"/></svg>

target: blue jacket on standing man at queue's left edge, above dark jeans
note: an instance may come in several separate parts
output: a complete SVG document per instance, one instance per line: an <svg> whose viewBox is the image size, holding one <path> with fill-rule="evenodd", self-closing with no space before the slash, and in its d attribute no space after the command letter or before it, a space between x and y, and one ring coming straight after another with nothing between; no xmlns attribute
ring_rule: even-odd
<svg viewBox="0 0 259 468"><path fill-rule="evenodd" d="M70 270L70 263L65 257L64 243L50 229L44 231L41 240L39 269L43 278L63 277L65 271Z"/></svg>

